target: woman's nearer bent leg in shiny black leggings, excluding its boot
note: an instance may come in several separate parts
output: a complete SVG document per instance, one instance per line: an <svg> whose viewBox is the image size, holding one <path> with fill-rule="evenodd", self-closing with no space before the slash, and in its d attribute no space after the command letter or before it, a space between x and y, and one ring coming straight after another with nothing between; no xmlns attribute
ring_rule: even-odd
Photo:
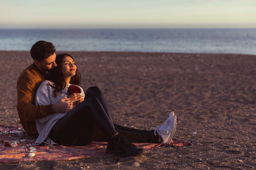
<svg viewBox="0 0 256 170"><path fill-rule="evenodd" d="M96 97L85 99L52 128L49 137L61 145L90 144L101 130L108 139L117 131Z"/></svg>

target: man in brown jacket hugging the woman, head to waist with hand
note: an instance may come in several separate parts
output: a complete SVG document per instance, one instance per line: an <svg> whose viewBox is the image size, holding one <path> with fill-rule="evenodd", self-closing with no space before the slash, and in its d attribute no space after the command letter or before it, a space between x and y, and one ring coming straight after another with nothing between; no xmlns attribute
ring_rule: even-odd
<svg viewBox="0 0 256 170"><path fill-rule="evenodd" d="M61 99L55 104L35 106L34 97L41 82L48 78L48 71L56 67L55 46L51 42L38 41L30 51L34 63L28 66L18 78L17 82L17 110L22 127L30 137L37 138L36 119L52 113L66 113L71 110L69 98Z"/></svg>

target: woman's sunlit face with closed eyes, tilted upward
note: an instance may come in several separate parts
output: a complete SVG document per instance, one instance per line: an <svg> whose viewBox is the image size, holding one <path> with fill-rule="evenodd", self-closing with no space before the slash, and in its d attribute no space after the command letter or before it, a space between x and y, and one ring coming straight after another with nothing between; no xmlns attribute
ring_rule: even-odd
<svg viewBox="0 0 256 170"><path fill-rule="evenodd" d="M76 65L72 57L67 56L63 58L61 71L65 79L76 75Z"/></svg>

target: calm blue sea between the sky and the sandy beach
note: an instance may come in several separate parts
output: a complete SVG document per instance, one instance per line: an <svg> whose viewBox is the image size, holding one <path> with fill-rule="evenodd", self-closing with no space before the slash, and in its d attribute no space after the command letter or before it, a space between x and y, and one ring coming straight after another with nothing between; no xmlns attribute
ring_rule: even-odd
<svg viewBox="0 0 256 170"><path fill-rule="evenodd" d="M0 29L0 50L29 51L38 40L57 51L256 55L256 29Z"/></svg>

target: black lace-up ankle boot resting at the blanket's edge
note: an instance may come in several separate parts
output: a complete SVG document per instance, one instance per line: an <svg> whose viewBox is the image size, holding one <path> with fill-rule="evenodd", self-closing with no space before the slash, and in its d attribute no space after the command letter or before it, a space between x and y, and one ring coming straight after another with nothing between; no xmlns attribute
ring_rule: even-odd
<svg viewBox="0 0 256 170"><path fill-rule="evenodd" d="M108 142L106 153L114 154L119 157L135 157L145 154L147 151L143 148L137 148L130 143L124 136L118 134Z"/></svg>

